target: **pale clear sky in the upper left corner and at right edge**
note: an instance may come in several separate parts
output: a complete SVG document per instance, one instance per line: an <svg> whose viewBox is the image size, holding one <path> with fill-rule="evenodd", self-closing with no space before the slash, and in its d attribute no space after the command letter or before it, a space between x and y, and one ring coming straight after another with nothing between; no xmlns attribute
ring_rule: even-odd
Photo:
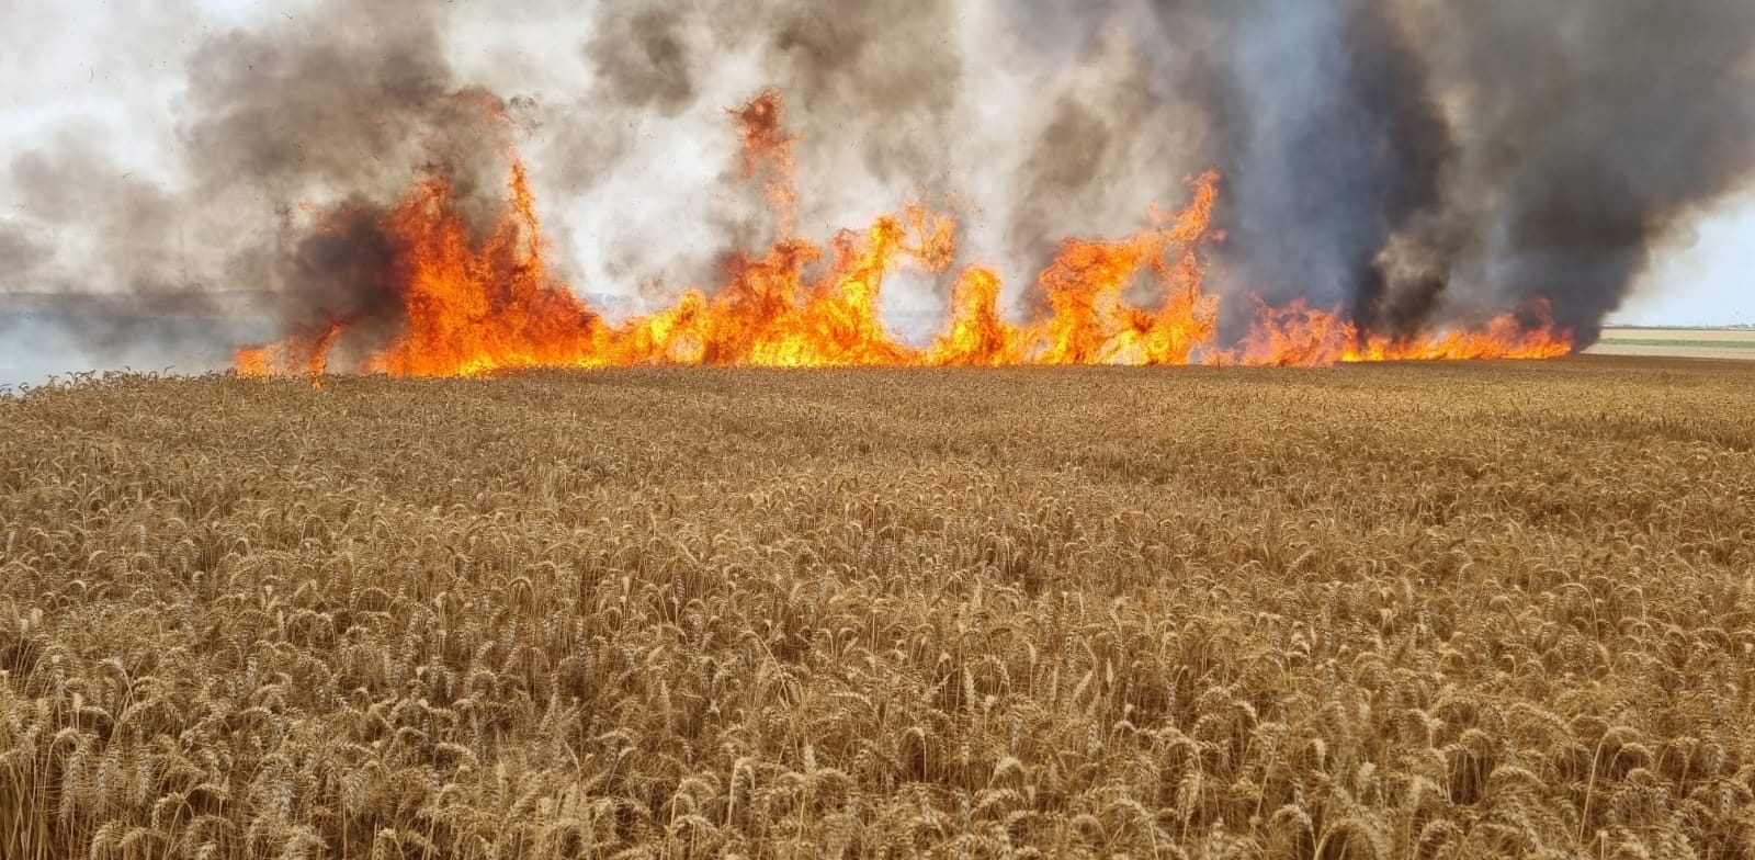
<svg viewBox="0 0 1755 860"><path fill-rule="evenodd" d="M0 0L12 54L0 67L0 153L79 135L151 176L176 146L188 51L216 30L298 11L297 2L249 0ZM541 12L521 14L518 26L541 25L532 19ZM0 221L16 218L12 209L0 205ZM1674 244L1611 323L1755 323L1755 193L1706 212ZM30 288L4 279L0 290Z"/></svg>

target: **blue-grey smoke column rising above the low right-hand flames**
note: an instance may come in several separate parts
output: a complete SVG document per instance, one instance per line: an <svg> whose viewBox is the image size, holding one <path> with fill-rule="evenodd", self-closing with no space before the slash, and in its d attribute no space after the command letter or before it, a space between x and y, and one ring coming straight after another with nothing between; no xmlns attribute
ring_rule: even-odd
<svg viewBox="0 0 1755 860"><path fill-rule="evenodd" d="M1436 202L1448 154L1427 72L1383 5L1223 7L1237 16L1225 26L1236 42L1207 74L1230 75L1213 109L1241 254L1227 274L1271 304L1369 319L1385 293L1372 260Z"/></svg>

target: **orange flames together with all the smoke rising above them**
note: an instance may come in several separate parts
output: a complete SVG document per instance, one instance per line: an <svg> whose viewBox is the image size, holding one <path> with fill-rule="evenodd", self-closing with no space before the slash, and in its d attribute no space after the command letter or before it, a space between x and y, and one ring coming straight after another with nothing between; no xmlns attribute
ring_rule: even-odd
<svg viewBox="0 0 1755 860"><path fill-rule="evenodd" d="M1755 177L1746 0L300 2L93 42L179 95L0 170L0 290L246 376L1546 358Z"/></svg>

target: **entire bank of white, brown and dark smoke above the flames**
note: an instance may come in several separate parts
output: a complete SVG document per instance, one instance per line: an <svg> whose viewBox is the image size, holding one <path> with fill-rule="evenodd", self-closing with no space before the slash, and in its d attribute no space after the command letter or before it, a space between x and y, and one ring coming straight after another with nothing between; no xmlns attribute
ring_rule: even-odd
<svg viewBox="0 0 1755 860"><path fill-rule="evenodd" d="M1018 291L1060 239L1127 235L1216 167L1227 297L1386 333L1544 298L1588 342L1755 167L1746 0L553 5L316 0L209 32L165 72L165 154L75 125L5 165L0 291L388 335L379 219L446 176L486 228L512 146L581 291L707 288L776 239L727 114L772 86L806 235L927 198ZM1253 312L1225 307L1232 332Z"/></svg>

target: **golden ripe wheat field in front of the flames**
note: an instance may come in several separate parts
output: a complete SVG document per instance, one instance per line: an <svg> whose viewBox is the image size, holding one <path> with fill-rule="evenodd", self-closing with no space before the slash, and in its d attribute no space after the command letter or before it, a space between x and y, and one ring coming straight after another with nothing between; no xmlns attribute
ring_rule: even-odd
<svg viewBox="0 0 1755 860"><path fill-rule="evenodd" d="M1755 365L0 398L0 856L1755 856Z"/></svg>

